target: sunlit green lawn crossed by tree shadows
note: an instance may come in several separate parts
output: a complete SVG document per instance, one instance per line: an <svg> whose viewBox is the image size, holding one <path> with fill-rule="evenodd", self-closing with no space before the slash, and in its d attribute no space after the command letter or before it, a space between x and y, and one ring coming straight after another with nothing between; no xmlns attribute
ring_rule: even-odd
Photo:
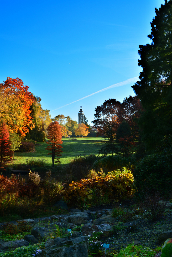
<svg viewBox="0 0 172 257"><path fill-rule="evenodd" d="M101 147L100 137L85 137L85 138L77 138L77 141L70 141L68 138L63 138L63 148L62 148L62 157L60 158L61 164L69 163L72 157L75 156L83 156L88 154L98 154L98 151ZM44 159L46 161L46 166L52 165L51 155L48 155L48 150L45 150L47 147L46 143L38 143L36 144L36 152L35 153L18 153L14 154L14 161L10 164L12 167L13 164L26 163L27 159Z"/></svg>

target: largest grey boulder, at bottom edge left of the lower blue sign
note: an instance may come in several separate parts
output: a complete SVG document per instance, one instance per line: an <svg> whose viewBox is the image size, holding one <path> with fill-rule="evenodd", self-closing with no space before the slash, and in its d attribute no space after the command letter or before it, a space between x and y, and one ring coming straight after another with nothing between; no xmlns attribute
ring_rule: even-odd
<svg viewBox="0 0 172 257"><path fill-rule="evenodd" d="M63 244L63 245L61 245ZM38 257L88 257L88 237L81 236L73 240L43 249Z"/></svg>

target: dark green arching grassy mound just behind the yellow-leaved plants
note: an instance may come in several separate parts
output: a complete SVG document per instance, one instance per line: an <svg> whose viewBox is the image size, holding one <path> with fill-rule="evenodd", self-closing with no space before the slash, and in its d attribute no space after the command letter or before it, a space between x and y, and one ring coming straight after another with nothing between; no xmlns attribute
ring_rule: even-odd
<svg viewBox="0 0 172 257"><path fill-rule="evenodd" d="M135 159L133 157L123 157L122 155L108 155L101 159L96 160L93 163L93 169L107 169L108 171L113 171L116 169L122 170L126 167L128 170L132 170L135 167Z"/></svg>

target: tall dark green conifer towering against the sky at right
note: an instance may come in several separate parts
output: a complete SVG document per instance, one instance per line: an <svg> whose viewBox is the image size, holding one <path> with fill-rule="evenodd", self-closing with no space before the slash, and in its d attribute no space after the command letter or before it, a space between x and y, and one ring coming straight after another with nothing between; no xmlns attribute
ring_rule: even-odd
<svg viewBox="0 0 172 257"><path fill-rule="evenodd" d="M172 133L172 1L155 11L148 35L152 43L139 46L143 71L140 81L132 86L145 109L138 125L148 153L153 153L164 136Z"/></svg>

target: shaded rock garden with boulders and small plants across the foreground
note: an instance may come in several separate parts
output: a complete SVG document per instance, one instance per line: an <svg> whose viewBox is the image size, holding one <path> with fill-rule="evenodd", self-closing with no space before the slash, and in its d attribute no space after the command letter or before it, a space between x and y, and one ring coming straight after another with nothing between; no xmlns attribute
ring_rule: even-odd
<svg viewBox="0 0 172 257"><path fill-rule="evenodd" d="M57 204L68 210L65 202ZM104 244L109 244L107 256L118 255L121 249L132 245L141 245L142 251L150 251L154 256L172 237L172 205L160 201L159 206L164 209L158 221L152 213L144 214L138 209L132 199L82 211L71 208L67 214L1 223L0 256L104 256ZM5 235L9 235L8 239Z"/></svg>

